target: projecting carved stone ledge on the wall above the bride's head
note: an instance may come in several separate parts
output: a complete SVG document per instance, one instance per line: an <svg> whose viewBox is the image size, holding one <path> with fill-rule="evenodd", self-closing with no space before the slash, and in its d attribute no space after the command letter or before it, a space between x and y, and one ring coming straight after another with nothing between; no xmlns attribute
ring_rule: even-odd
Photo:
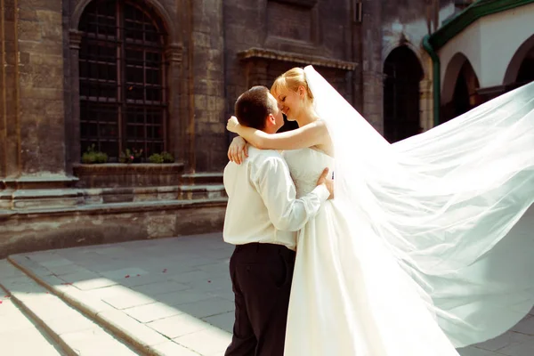
<svg viewBox="0 0 534 356"><path fill-rule="evenodd" d="M304 65L311 64L317 67L343 69L352 71L356 69L358 63L352 61L339 61L331 58L320 57L302 53L291 53L284 51L274 51L263 48L249 48L247 51L238 53L241 61L263 59L271 61L287 61L291 63L300 63Z"/></svg>

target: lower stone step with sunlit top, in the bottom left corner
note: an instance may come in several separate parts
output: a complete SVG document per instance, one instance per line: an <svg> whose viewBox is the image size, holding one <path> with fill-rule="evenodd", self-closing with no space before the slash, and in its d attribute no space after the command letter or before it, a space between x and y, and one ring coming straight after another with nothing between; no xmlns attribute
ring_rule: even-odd
<svg viewBox="0 0 534 356"><path fill-rule="evenodd" d="M55 354L139 354L109 334L105 328L63 302L57 295L37 284L34 279L22 273L12 263L6 260L0 261L0 271L0 285L10 301L35 320L36 324L53 338L53 341L61 345L64 353ZM38 345L36 347L40 348ZM3 346L2 349L4 349ZM52 355L54 353L45 353L44 349L40 349L32 354Z"/></svg>

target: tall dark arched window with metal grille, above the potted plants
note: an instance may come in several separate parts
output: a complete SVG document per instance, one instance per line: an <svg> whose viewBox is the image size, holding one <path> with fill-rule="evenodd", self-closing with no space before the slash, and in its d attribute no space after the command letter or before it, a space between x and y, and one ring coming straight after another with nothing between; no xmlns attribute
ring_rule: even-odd
<svg viewBox="0 0 534 356"><path fill-rule="evenodd" d="M117 161L166 150L165 33L139 4L96 0L80 20L80 142Z"/></svg>

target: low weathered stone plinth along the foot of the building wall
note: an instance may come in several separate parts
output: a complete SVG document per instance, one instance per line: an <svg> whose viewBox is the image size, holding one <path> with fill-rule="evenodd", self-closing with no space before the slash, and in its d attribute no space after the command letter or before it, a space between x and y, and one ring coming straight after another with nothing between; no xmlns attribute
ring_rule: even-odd
<svg viewBox="0 0 534 356"><path fill-rule="evenodd" d="M51 248L221 231L225 206L112 206L0 215L0 258Z"/></svg>

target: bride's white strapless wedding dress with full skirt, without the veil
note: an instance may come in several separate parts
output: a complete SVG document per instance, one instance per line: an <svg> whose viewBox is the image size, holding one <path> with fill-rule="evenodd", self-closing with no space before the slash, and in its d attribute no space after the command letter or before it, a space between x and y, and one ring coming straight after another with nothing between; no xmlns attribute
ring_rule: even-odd
<svg viewBox="0 0 534 356"><path fill-rule="evenodd" d="M283 156L298 197L315 188L325 167L334 168L319 150ZM357 239L349 238L353 231ZM299 232L286 356L457 355L417 285L372 236L336 199Z"/></svg>

